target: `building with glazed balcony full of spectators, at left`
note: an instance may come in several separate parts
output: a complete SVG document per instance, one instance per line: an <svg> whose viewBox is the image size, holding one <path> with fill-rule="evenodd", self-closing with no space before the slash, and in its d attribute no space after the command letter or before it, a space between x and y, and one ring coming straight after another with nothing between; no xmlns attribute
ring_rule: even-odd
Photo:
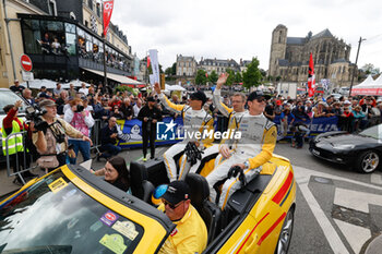
<svg viewBox="0 0 382 254"><path fill-rule="evenodd" d="M1 59L4 59L0 62L0 86L9 87L15 78L23 82L20 66L23 53L33 61L35 78L102 82L100 8L94 0L7 0L0 14L0 48L3 49ZM11 19L8 24L4 13ZM134 57L131 47L127 36L114 24L109 26L105 55L108 73L121 77L132 75Z"/></svg>

